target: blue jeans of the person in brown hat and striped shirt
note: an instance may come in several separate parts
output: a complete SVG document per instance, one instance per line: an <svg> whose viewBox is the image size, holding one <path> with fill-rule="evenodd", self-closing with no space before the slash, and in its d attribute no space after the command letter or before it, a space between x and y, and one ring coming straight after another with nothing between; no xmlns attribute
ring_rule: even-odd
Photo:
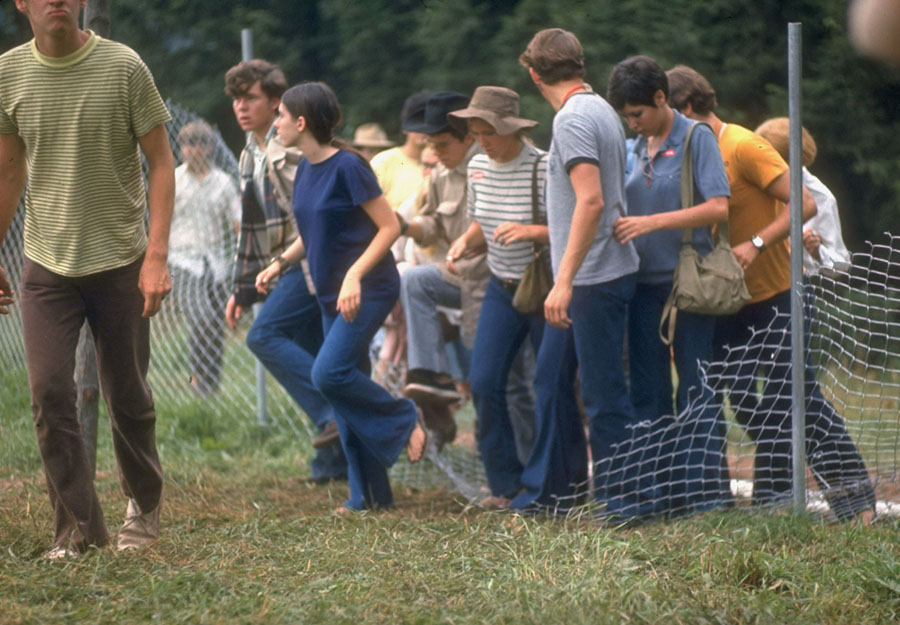
<svg viewBox="0 0 900 625"><path fill-rule="evenodd" d="M512 497L521 486L522 462L507 389L513 364L517 358L521 360L522 343L530 337L537 350L543 328L543 316L516 311L512 293L493 276L490 278L478 317L470 381L478 414L478 446L488 486L496 496Z"/></svg>

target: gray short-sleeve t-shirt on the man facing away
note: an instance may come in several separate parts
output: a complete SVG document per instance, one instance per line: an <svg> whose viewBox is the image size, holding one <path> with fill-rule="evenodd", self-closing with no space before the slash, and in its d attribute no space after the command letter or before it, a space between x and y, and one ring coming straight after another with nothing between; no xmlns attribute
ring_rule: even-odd
<svg viewBox="0 0 900 625"><path fill-rule="evenodd" d="M575 213L575 190L569 169L585 162L600 168L603 214L573 284L599 284L636 272L638 255L634 245L622 245L612 236L613 223L625 215L625 131L609 103L595 93L571 96L553 118L549 158L547 225L553 275L559 271Z"/></svg>

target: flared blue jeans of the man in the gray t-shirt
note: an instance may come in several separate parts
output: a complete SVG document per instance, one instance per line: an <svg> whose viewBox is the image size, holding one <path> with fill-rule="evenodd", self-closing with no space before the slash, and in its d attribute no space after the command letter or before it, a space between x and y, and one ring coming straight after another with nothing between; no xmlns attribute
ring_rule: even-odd
<svg viewBox="0 0 900 625"><path fill-rule="evenodd" d="M612 512L637 513L639 493L628 491L634 490L636 470L626 471L616 455L636 422L622 369L625 315L634 288L634 274L576 286L569 306L571 330L545 328L535 367L535 447L522 474L525 491L513 507L564 509L579 490L587 490L584 428L574 393L577 368L590 428L595 497Z"/></svg>

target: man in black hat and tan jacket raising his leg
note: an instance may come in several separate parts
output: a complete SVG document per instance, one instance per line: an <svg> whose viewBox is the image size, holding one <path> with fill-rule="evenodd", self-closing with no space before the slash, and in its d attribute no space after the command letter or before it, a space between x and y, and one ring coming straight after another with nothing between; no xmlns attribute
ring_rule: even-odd
<svg viewBox="0 0 900 625"><path fill-rule="evenodd" d="M480 150L468 132L460 132L447 121L448 113L468 103L468 96L461 93L435 93L408 124L412 132L428 135L439 160L431 172L425 206L401 230L420 246L434 246L434 260L406 271L400 288L409 360L404 393L426 404L452 404L461 399L449 373L438 306L462 310L463 342L471 346L488 276L483 250L461 259L458 273L451 273L444 262L450 245L471 223L466 214L466 167ZM465 376L468 363L460 365Z"/></svg>

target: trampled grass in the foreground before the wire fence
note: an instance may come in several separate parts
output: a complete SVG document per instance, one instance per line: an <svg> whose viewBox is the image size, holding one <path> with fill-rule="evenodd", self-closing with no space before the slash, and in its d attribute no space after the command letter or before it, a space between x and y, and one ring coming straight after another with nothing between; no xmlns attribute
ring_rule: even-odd
<svg viewBox="0 0 900 625"><path fill-rule="evenodd" d="M293 432L160 411L162 537L47 562L50 509L21 374L0 373L0 623L893 623L900 532L772 512L616 529L489 513L395 489L391 511L331 511ZM101 416L98 490L125 501Z"/></svg>

